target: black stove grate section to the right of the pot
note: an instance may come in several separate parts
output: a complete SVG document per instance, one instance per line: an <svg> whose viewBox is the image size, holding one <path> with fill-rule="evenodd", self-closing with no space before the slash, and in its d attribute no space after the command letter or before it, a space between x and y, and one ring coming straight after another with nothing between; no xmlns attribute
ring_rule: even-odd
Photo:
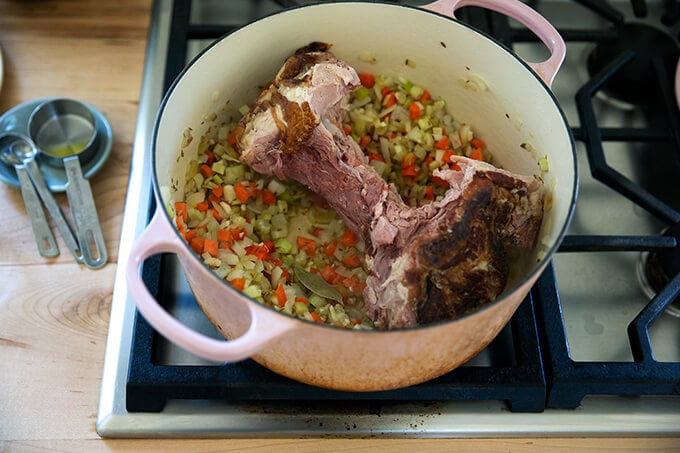
<svg viewBox="0 0 680 453"><path fill-rule="evenodd" d="M650 64L658 82L657 106L663 106L664 121L658 128L601 129L593 108L593 97L603 85L629 64L634 52L624 51L583 85L576 93L576 105L581 129L576 136L586 145L590 172L593 177L629 198L669 226L677 225L680 212L664 203L654 194L612 168L605 158L607 141L665 142L680 150L680 122L672 83L667 77L670 68L664 67L661 58L652 58ZM567 237L561 251L642 251L678 253L680 245L674 236L591 236ZM559 296L545 290L539 283L539 307L559 306ZM680 363L655 360L650 341L650 328L671 303L680 297L680 274L676 274L665 287L642 308L628 325L628 337L633 362L575 362L570 359L565 327L561 316L553 311L538 308L542 325L554 332L544 339L552 379L549 383L547 407L575 408L583 397L600 395L679 395Z"/></svg>

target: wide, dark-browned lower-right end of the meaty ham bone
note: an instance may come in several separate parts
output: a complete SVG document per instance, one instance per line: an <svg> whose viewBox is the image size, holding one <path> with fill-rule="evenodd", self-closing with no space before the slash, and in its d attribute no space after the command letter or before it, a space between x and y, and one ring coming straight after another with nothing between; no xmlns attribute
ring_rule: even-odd
<svg viewBox="0 0 680 453"><path fill-rule="evenodd" d="M367 257L364 297L377 326L452 319L494 300L507 282L508 252L534 243L543 216L540 182L456 160L461 171L436 172L451 185L444 199L387 209L381 220L396 217L402 226L393 242L374 244Z"/></svg>

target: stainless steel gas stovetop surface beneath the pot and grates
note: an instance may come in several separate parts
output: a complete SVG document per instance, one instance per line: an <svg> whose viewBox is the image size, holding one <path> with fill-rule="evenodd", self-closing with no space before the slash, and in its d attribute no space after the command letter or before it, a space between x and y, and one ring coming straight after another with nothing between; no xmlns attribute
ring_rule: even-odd
<svg viewBox="0 0 680 453"><path fill-rule="evenodd" d="M224 26L247 23L260 14L280 9L275 1L218 2L195 0L188 9L192 23ZM305 3L305 2L298 2ZM420 2L426 3L426 2ZM656 123L647 108L637 108L599 92L593 97L593 110L600 129L593 132L582 125L584 113L575 103L576 93L583 91L589 76L585 69L593 44L584 30L604 31L611 22L592 13L579 3L568 0L533 2L553 24L565 30L568 54L553 91L562 106L577 139L580 164L580 195L576 214L565 245L554 258L547 280L554 271L559 298L556 315L540 307L541 292L529 311L536 312L539 331L564 329L566 342L539 333L541 355L538 366L547 393L545 408L529 412L512 411L503 400L442 399L425 401L396 399L383 401L376 409L374 401L354 398L331 401L315 400L240 400L229 398L168 398L160 410L129 410L129 376L134 374L131 361L133 338L142 323L136 317L133 301L127 294L124 265L134 239L144 229L151 204L150 137L157 106L163 94L166 55L168 54L173 2L158 0L154 5L149 34L147 59L133 143L132 166L119 250L111 307L109 336L103 371L102 392L97 430L105 437L184 437L184 436L355 436L355 437L512 437L512 436L583 436L583 435L680 435L680 309L678 303L663 310L645 332L650 349L631 347L628 325L654 296L643 277L649 247L645 237L655 240L664 228L680 220L680 142L668 138L665 126ZM637 19L628 1L609 2L625 13L630 23L659 24L663 2L647 2L647 19ZM226 7L229 5L229 7ZM225 11L226 10L226 11ZM493 23L493 21L492 21ZM516 24L513 24L516 25ZM678 27L663 27L673 34L677 45ZM209 34L209 33L208 33ZM190 59L210 43L212 37L188 40L186 59ZM542 47L529 38L518 39L513 49L523 57L541 59ZM641 89L631 86L631 90ZM652 110L668 107L656 106ZM672 121L678 120L673 104ZM638 131L625 134L621 128ZM646 131L646 132L639 132ZM603 155L610 169L653 194L661 208L643 208L636 195L623 196L590 174L586 144L593 134L603 138ZM636 135L637 134L637 135ZM640 139L640 136L643 138ZM591 154L592 155L592 154ZM653 155L654 159L649 156ZM606 175L612 173L605 170ZM616 185L616 182L613 184ZM624 184L624 190L627 183ZM646 195L645 195L646 196ZM643 197L644 198L644 197ZM650 211L652 212L650 214ZM675 217L674 217L675 216ZM610 238L604 242L592 237ZM677 241L668 239L659 247L675 248ZM627 242L628 241L628 242ZM630 245L630 243L632 245ZM626 243L628 245L621 245ZM641 245L643 244L643 245ZM651 247L654 250L654 247ZM200 310L192 302L191 293L178 266L168 258L163 274L164 287L170 288L174 302L168 309L185 323L207 334L217 335ZM542 280L546 280L543 279ZM677 291L675 283L671 283ZM554 285L554 283L551 283ZM652 299L654 301L655 299ZM559 303L558 303L559 302ZM529 302L527 302L529 304ZM543 329L543 330L542 330ZM644 336L644 332L643 332ZM547 339L546 339L547 337ZM154 360L159 368L212 367L219 364L202 361L162 340ZM556 352L564 350L568 360L559 362ZM483 351L469 366L493 362L493 353ZM564 386L568 400L558 390L563 384L552 383L553 375L567 367L567 375L580 368L594 370L600 377L618 376L620 369L652 363L652 374L661 370L665 381L660 384L671 391L628 390L600 391L589 375ZM566 365L565 365L566 363ZM210 369L212 369L210 368ZM670 376L670 377L668 377ZM651 376L654 381L655 376ZM486 384L480 383L480 384ZM614 379L614 385L619 385ZM654 383L650 384L652 387ZM675 385L675 387L673 387ZM674 389L674 391L673 391ZM579 394L582 392L583 394ZM658 393L658 394L655 394ZM625 394L620 396L619 394ZM555 396L556 395L556 396ZM582 396L584 398L581 399ZM552 399L551 399L552 398ZM134 404L132 404L134 406ZM573 406L573 407L571 407ZM567 408L565 408L567 407Z"/></svg>

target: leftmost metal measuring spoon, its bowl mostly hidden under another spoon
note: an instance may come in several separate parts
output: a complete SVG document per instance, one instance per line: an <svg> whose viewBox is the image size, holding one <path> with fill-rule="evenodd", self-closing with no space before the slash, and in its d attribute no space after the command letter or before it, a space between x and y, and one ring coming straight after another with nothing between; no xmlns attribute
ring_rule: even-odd
<svg viewBox="0 0 680 453"><path fill-rule="evenodd" d="M3 135L0 137L0 159L7 165L13 165L17 172L21 195L24 198L28 218L31 220L31 227L38 246L38 252L45 258L53 258L59 255L59 247L54 239L47 217L45 217L40 198L38 198L35 187L28 175L28 170L24 166L22 156L16 155L16 150L14 149L15 141L15 135Z"/></svg>

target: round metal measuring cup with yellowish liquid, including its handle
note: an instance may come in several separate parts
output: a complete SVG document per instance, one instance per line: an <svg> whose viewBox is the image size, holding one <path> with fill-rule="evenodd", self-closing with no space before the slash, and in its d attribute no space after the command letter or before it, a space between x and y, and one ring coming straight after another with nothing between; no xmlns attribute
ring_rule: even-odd
<svg viewBox="0 0 680 453"><path fill-rule="evenodd" d="M95 118L90 109L73 99L53 99L38 106L28 120L28 131L47 164L64 167L76 235L87 266L106 264L108 254L92 188L83 176L87 162L98 148Z"/></svg>

